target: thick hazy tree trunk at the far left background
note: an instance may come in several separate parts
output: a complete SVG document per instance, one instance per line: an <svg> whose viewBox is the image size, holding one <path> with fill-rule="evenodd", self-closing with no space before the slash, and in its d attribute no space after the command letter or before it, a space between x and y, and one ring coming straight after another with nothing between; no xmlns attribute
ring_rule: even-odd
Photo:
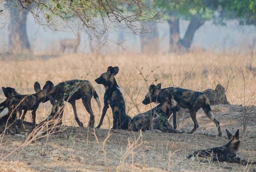
<svg viewBox="0 0 256 172"><path fill-rule="evenodd" d="M20 6L10 6L11 20L8 26L9 45L16 53L30 51L30 44L26 33L26 18L28 10Z"/></svg>

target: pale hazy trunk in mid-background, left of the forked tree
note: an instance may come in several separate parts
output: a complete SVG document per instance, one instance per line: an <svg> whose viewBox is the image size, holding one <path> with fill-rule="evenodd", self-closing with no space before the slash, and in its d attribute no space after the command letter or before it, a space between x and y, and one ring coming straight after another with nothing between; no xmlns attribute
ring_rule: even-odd
<svg viewBox="0 0 256 172"><path fill-rule="evenodd" d="M140 48L143 53L157 53L159 51L159 32L156 22L142 24L147 33L140 36Z"/></svg>

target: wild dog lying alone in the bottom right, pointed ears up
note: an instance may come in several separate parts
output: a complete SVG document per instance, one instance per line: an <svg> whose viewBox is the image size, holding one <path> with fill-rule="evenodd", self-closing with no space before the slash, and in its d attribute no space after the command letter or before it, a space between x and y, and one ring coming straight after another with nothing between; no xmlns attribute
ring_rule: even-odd
<svg viewBox="0 0 256 172"><path fill-rule="evenodd" d="M236 152L240 144L239 129L236 131L236 134L234 136L227 129L226 132L228 134L228 138L231 139L226 145L217 148L198 150L188 156L188 158L203 158L202 162L226 161L236 162L242 165L256 164L256 162L248 162L240 157L236 157Z"/></svg>

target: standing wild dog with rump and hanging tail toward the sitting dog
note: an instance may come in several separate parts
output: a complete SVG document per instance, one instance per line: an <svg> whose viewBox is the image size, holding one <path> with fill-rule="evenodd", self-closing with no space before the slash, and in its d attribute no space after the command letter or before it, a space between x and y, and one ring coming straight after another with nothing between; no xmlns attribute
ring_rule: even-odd
<svg viewBox="0 0 256 172"><path fill-rule="evenodd" d="M72 105L72 108L74 110L74 116L75 120L78 123L80 127L83 127L83 123L80 122L77 112L76 112L76 100L82 99L82 102L84 104L84 107L86 108L87 112L90 114L90 121L89 126L94 126L94 114L92 112L92 105L91 105L91 99L94 97L96 100L99 110L101 110L100 105L100 99L95 91L94 86L87 81L87 80L68 80L64 82L60 82L56 86L51 81L46 81L46 83L49 83L52 85L52 90L49 92L46 100L57 100L58 102L67 101ZM54 105L54 102L51 101L51 104Z"/></svg>

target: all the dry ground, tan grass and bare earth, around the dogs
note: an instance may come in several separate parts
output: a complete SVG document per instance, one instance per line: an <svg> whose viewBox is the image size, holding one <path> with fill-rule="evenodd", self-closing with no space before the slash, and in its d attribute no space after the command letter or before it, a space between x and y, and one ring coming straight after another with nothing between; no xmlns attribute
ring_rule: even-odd
<svg viewBox="0 0 256 172"><path fill-rule="evenodd" d="M38 55L39 56L39 55ZM241 130L240 156L256 160L256 66L251 56L191 52L188 54L141 55L120 54L96 56L87 54L62 55L55 58L32 58L29 60L0 60L0 86L12 86L21 94L34 92L35 81L43 85L46 80L58 84L64 80L86 79L92 82L103 103L104 88L94 80L106 71L108 66L119 66L116 80L126 100L128 115L150 109L141 104L147 84L162 83L162 87L180 86L192 90L215 88L224 85L228 101L237 105L212 106L220 121L223 135L228 128ZM40 56L39 56L40 57ZM43 56L41 56L43 57ZM16 57L15 57L16 58ZM247 67L247 68L246 68ZM140 70L140 71L139 71ZM151 72L153 71L153 72ZM143 78L143 76L146 79ZM146 83L145 84L145 80ZM0 90L2 91L2 90ZM0 92L0 101L4 100ZM239 105L243 106L239 106ZM95 121L98 124L100 112L92 100ZM154 106L154 104L152 104ZM244 108L244 106L250 106ZM50 112L50 103L40 104L37 122ZM89 114L82 103L77 103L78 116L88 123ZM28 113L29 114L29 113ZM248 116L246 132L242 132L244 116ZM108 110L103 128L93 130L77 128L72 107L66 104L64 125L68 126L58 135L50 136L29 144L1 162L0 171L254 171L256 166L214 162L202 163L186 159L194 150L222 146L228 140L212 138L203 134L215 134L215 126L200 110L197 115L200 128L196 134L168 134L148 131L139 137L136 132L112 131L112 114ZM30 115L26 116L30 120ZM189 131L193 128L189 114L181 112L178 128ZM134 142L134 138L138 139ZM25 138L6 135L0 144L1 159ZM104 142L105 141L105 142Z"/></svg>

